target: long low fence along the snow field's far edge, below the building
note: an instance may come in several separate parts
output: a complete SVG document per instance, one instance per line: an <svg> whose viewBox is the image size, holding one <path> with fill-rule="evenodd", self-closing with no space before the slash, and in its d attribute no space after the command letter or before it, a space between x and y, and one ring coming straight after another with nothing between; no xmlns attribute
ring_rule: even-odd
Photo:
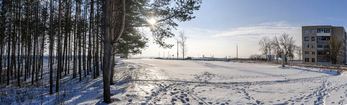
<svg viewBox="0 0 347 105"><path fill-rule="evenodd" d="M229 59L230 61L255 61L255 62L271 62L271 63L281 63L281 61L264 61L264 60L247 60L247 59ZM320 65L328 67L346 67L347 65L338 64L319 64L319 63L306 63L306 62L287 62L286 64L308 64L308 65Z"/></svg>

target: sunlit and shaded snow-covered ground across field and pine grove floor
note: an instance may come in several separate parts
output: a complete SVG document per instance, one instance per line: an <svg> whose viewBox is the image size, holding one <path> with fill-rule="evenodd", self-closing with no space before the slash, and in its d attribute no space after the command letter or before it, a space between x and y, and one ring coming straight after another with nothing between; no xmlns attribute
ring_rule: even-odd
<svg viewBox="0 0 347 105"><path fill-rule="evenodd" d="M327 69L255 62L116 61L112 105L347 104L346 72L339 75ZM102 75L95 80L88 75L82 82L69 75L64 78L61 88L65 91L60 93L66 94L66 104L104 104ZM33 88L38 93L42 90ZM48 92L46 88L43 91ZM41 99L43 104L53 104L57 96L44 94L43 99L37 96L20 104L41 104Z"/></svg>

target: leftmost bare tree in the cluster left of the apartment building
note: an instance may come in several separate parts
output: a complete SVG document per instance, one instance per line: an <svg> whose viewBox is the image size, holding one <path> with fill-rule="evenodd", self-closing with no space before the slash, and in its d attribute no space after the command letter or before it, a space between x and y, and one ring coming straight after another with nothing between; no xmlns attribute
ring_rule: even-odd
<svg viewBox="0 0 347 105"><path fill-rule="evenodd" d="M271 54L271 39L269 38L269 36L263 36L262 39L260 39L259 41L259 50L263 52L263 54L265 54L265 58L267 58L267 55ZM271 55L269 56L269 60L271 60Z"/></svg>

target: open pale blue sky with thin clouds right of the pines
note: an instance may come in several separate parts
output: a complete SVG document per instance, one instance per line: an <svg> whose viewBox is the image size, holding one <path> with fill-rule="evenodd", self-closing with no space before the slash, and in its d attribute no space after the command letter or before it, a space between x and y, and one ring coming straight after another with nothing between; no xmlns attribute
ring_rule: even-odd
<svg viewBox="0 0 347 105"><path fill-rule="evenodd" d="M172 32L178 35L184 30L189 37L187 56L247 58L261 53L258 43L263 36L286 32L301 45L302 26L332 25L347 30L346 4L347 0L203 0L200 10L194 11L196 18L177 22ZM175 45L163 49L151 40L141 56L177 57L177 42L173 38L165 41Z"/></svg>

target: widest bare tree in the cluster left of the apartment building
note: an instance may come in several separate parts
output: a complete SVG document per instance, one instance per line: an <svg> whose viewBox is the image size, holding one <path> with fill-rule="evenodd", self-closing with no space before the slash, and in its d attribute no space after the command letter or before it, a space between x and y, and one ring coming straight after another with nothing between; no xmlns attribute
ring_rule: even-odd
<svg viewBox="0 0 347 105"><path fill-rule="evenodd" d="M279 37L273 37L272 45L280 51L278 53L283 52L285 55L289 55L292 54L294 51L293 49L295 49L295 41L296 40L293 39L293 36L290 37L288 33L282 33L282 35Z"/></svg>

